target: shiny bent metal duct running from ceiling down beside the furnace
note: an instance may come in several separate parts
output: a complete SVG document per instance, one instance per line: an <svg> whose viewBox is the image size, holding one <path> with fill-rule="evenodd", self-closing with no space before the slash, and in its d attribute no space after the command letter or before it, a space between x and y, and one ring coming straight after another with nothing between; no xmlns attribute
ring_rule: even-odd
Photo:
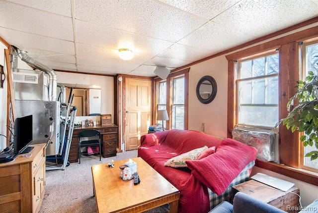
<svg viewBox="0 0 318 213"><path fill-rule="evenodd" d="M14 49L18 53L18 56L21 58L21 60L25 61L27 64L33 66L36 69L44 71L49 75L49 101L56 101L57 77L54 70L28 56L25 51L21 51L16 47L14 47Z"/></svg>

